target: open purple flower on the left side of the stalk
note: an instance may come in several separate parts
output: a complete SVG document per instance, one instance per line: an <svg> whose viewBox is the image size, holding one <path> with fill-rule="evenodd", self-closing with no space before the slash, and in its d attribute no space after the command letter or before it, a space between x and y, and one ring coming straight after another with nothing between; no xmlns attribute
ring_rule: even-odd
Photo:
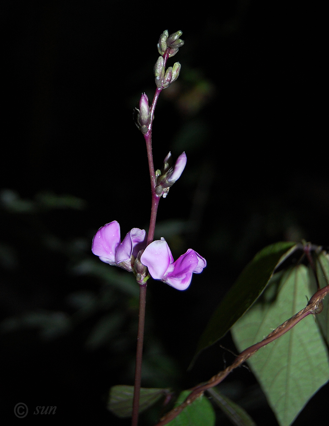
<svg viewBox="0 0 329 426"><path fill-rule="evenodd" d="M146 247L146 241L145 230L133 228L121 242L120 225L114 220L99 228L93 237L91 250L102 262L131 272L138 252Z"/></svg>

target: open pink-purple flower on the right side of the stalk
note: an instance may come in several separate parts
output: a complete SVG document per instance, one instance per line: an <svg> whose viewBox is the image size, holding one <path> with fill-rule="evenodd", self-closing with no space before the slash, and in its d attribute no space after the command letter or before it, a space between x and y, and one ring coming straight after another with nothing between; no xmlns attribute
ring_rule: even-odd
<svg viewBox="0 0 329 426"><path fill-rule="evenodd" d="M152 278L160 279L177 290L186 290L192 273L202 272L207 265L206 260L191 248L174 262L164 238L151 242L140 256L140 261L148 267Z"/></svg>

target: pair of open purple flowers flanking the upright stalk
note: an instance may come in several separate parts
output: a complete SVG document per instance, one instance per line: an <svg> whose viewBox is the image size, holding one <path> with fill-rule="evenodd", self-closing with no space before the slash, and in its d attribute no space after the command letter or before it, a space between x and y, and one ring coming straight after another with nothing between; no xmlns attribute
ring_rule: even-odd
<svg viewBox="0 0 329 426"><path fill-rule="evenodd" d="M200 273L207 265L206 260L189 248L175 262L164 238L153 241L146 247L145 230L133 228L124 240L120 240L120 225L113 221L96 232L92 251L102 262L133 271L135 260L148 268L153 279L160 279L178 290L185 290L192 279L192 273Z"/></svg>

